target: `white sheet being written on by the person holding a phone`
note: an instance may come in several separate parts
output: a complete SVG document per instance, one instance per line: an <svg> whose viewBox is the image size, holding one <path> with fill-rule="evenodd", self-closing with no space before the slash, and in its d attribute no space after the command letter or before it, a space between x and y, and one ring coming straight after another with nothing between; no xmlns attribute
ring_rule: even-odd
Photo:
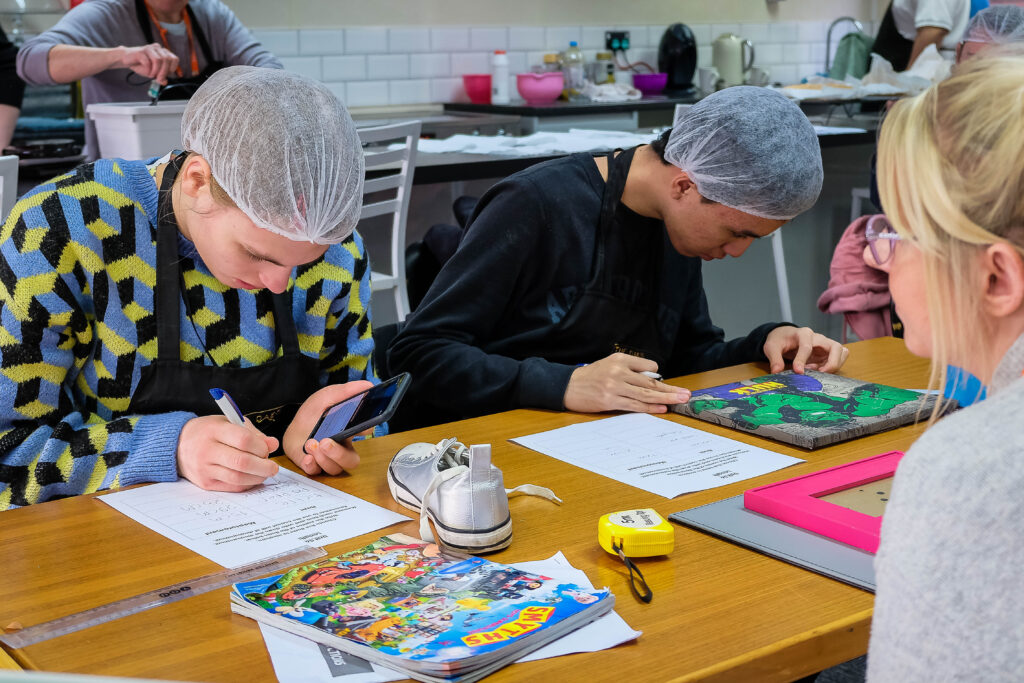
<svg viewBox="0 0 1024 683"><path fill-rule="evenodd" d="M409 519L286 469L241 494L203 490L179 479L115 492L99 500L231 568Z"/></svg>

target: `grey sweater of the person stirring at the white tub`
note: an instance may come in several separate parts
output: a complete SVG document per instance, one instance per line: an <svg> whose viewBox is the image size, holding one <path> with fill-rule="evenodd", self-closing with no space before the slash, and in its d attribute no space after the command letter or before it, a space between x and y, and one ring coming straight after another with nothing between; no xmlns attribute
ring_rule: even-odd
<svg viewBox="0 0 1024 683"><path fill-rule="evenodd" d="M278 60L252 33L243 26L234 13L220 0L190 0L188 6L203 29L210 45L211 56L224 66L248 65L283 69ZM165 25L166 26L166 25ZM178 55L178 63L185 76L190 76L191 52L184 24L178 31L168 31L170 50ZM160 43L160 32L152 27L153 39ZM147 41L138 24L134 0L88 0L65 14L56 25L35 38L26 41L17 53L17 74L30 85L54 85L50 78L49 52L54 45L83 47L134 47ZM206 58L196 45L199 69L206 69ZM82 79L82 105L92 102L147 101L150 81L129 69L111 69ZM98 156L96 128L88 115L85 122L86 154L90 159Z"/></svg>

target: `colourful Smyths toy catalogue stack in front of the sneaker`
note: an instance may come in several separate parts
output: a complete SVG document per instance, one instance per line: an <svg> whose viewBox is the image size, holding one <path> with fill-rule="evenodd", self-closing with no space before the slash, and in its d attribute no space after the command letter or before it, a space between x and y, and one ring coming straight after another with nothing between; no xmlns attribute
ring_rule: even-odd
<svg viewBox="0 0 1024 683"><path fill-rule="evenodd" d="M231 586L231 611L421 681L475 681L613 603L402 535Z"/></svg>

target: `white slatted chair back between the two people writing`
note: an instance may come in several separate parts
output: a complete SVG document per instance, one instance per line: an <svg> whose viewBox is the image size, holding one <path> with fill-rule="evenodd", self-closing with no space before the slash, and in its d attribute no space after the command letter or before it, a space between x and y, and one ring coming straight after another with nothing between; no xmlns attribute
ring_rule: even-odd
<svg viewBox="0 0 1024 683"><path fill-rule="evenodd" d="M366 158L367 180L362 185L364 204L359 222L374 216L391 214L390 272L378 270L378 263L370 256L371 286L374 291L391 290L397 319L409 315L409 292L406 289L406 219L409 216L409 197L413 189L413 172L416 169L416 145L420 139L420 121L392 126L359 128ZM397 145L400 144L400 147ZM374 177L371 177L374 176ZM376 193L391 193L390 199L366 198Z"/></svg>

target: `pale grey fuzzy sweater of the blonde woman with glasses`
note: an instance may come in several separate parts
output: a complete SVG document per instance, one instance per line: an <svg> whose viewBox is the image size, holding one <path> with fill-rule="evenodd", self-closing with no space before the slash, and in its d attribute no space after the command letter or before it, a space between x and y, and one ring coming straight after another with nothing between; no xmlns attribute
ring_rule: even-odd
<svg viewBox="0 0 1024 683"><path fill-rule="evenodd" d="M874 561L867 680L1024 680L1024 337L988 397L900 462Z"/></svg>

